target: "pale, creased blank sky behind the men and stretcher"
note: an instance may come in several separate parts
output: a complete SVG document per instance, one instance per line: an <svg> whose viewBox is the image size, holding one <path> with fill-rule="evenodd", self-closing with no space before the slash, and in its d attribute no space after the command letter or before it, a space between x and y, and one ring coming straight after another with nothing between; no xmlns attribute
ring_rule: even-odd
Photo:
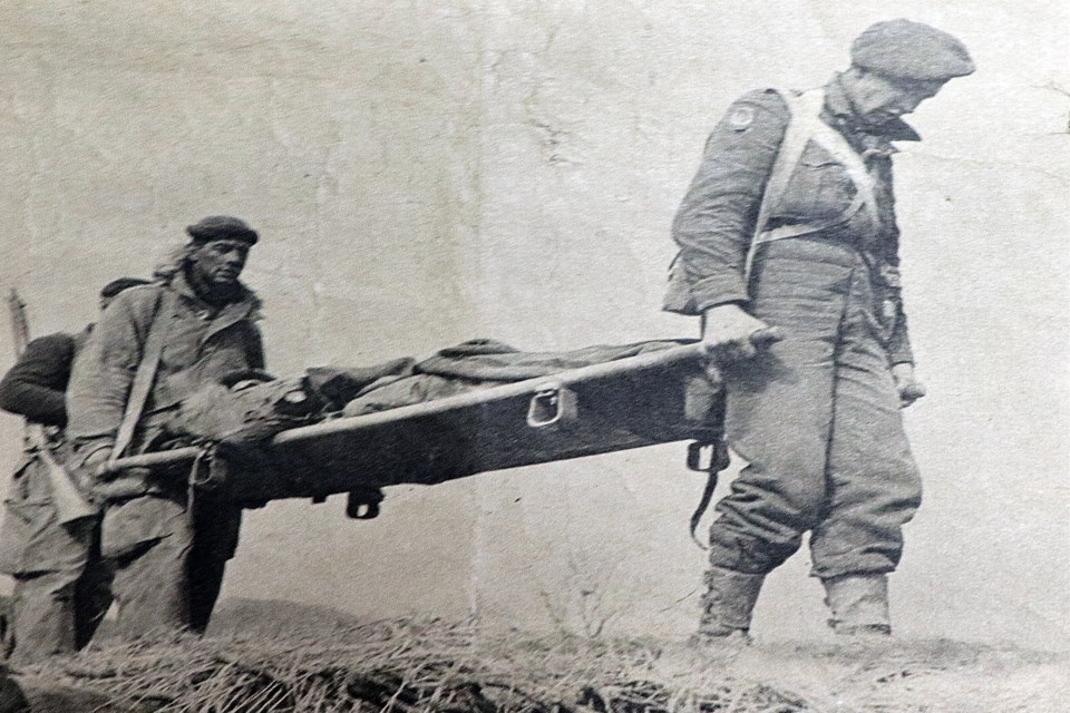
<svg viewBox="0 0 1070 713"><path fill-rule="evenodd" d="M8 0L0 289L80 328L187 223L257 227L271 367L477 335L567 349L692 335L659 312L668 227L707 131L758 86L809 87L873 21L961 37L980 67L896 159L927 479L894 579L907 636L1070 643L1064 4L921 0ZM9 339L0 350L10 353ZM0 422L0 468L18 420ZM669 446L251 512L225 595L373 616L683 636L701 478ZM824 636L800 555L760 636Z"/></svg>

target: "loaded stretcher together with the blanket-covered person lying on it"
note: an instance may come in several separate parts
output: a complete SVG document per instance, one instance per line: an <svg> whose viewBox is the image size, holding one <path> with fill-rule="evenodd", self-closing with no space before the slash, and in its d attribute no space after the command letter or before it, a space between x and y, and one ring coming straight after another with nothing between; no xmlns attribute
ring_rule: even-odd
<svg viewBox="0 0 1070 713"><path fill-rule="evenodd" d="M474 340L420 362L233 374L183 402L169 450L125 467L191 467L194 485L245 504L380 488L690 440L688 465L724 466L716 359L693 340L522 352ZM706 461L706 462L703 462Z"/></svg>

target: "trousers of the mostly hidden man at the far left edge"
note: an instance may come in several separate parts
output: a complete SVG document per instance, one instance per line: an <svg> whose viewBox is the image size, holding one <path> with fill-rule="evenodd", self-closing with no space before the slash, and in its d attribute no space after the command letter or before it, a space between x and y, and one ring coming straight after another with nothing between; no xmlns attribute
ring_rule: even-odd
<svg viewBox="0 0 1070 713"><path fill-rule="evenodd" d="M0 545L11 592L10 657L28 664L89 643L111 605L111 572L100 557L100 519L60 524L43 467L16 473Z"/></svg>

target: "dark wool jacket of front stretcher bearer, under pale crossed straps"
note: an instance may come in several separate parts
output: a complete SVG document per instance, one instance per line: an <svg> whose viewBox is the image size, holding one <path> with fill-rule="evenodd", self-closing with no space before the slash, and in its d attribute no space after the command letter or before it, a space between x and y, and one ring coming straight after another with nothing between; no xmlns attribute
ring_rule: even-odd
<svg viewBox="0 0 1070 713"><path fill-rule="evenodd" d="M853 111L838 76L826 86L821 120L843 135L865 162L873 179L876 221L849 214L857 187L844 165L810 141L794 168L786 191L769 212L768 228L800 223L835 225L820 237L863 250L888 292L898 297L898 241L892 191L893 140L918 140L902 120L879 129L865 126ZM664 309L701 314L724 303L746 304L745 264L774 169L790 120L790 110L772 89L749 92L735 101L706 144L699 170L677 212L673 240L680 252L670 274ZM842 216L843 221L835 219ZM786 238L797 240L797 238ZM892 363L912 362L902 310L889 329Z"/></svg>

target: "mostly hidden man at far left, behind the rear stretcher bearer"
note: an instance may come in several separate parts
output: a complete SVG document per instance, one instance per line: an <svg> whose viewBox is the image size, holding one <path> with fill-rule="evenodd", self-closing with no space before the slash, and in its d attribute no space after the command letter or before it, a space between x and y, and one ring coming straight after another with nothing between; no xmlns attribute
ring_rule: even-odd
<svg viewBox="0 0 1070 713"><path fill-rule="evenodd" d="M109 282L100 291L100 310L124 290L146 282L135 277ZM31 341L0 380L0 409L40 424L49 452L59 462L69 450L64 394L75 355L93 326ZM14 579L9 654L16 664L81 648L111 605L111 577L99 551L100 518L61 521L48 463L38 448L28 447L14 471L0 530L0 572Z"/></svg>

